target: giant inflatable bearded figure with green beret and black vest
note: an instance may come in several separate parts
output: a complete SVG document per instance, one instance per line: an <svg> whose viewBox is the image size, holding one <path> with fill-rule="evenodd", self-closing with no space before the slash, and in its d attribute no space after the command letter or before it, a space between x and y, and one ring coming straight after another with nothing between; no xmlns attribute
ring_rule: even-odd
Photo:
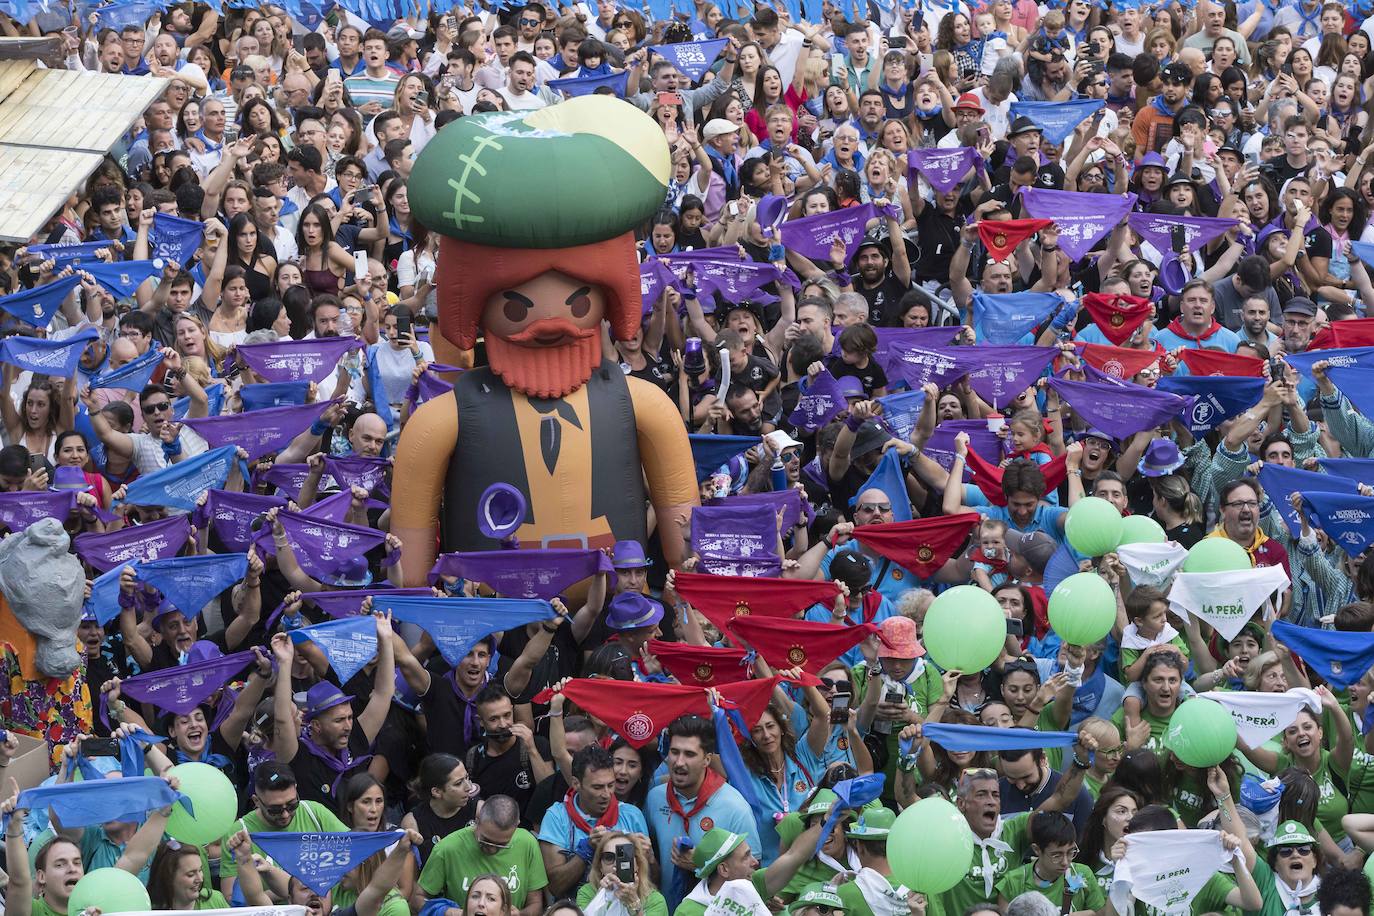
<svg viewBox="0 0 1374 916"><path fill-rule="evenodd" d="M493 483L525 496L521 547L644 541L653 503L682 559L697 479L677 408L602 353L603 320L617 339L639 331L633 228L664 205L669 163L649 115L595 95L459 118L415 162L411 206L444 236L440 334L463 350L482 336L488 367L401 434L392 530L408 584L440 545L499 547L477 525Z"/></svg>

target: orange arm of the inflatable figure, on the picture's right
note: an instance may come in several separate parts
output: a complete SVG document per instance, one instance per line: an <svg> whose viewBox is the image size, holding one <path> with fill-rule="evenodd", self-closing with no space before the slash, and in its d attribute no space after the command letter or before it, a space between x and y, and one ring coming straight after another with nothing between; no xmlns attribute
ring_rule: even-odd
<svg viewBox="0 0 1374 916"><path fill-rule="evenodd" d="M677 567L686 558L687 525L691 515L687 509L698 501L697 466L691 460L691 444L687 441L682 417L662 389L633 376L628 376L625 382L635 404L639 460L644 466L649 499L658 518L658 538L668 564Z"/></svg>

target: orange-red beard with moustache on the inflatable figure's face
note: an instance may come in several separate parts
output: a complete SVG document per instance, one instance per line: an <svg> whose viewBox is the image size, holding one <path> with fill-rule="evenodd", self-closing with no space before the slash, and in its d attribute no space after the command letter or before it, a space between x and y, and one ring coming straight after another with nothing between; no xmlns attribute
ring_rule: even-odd
<svg viewBox="0 0 1374 916"><path fill-rule="evenodd" d="M540 343L562 334L558 343ZM570 321L536 321L511 336L486 336L486 361L508 387L529 397L566 397L587 385L600 365L600 331Z"/></svg>

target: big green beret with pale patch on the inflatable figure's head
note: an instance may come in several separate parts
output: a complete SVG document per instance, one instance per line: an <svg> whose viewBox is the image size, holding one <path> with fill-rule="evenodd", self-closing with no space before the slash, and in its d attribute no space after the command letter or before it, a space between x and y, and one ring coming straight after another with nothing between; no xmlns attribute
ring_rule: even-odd
<svg viewBox="0 0 1374 916"><path fill-rule="evenodd" d="M565 249L629 232L664 206L662 129L628 102L587 95L537 111L458 118L409 179L431 232L510 249Z"/></svg>

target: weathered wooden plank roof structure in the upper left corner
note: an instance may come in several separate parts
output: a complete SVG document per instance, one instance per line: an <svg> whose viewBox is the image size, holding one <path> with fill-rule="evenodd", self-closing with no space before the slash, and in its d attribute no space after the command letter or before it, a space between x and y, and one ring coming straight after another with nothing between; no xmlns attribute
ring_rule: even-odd
<svg viewBox="0 0 1374 916"><path fill-rule="evenodd" d="M166 80L49 70L0 38L0 240L27 242L166 89Z"/></svg>

